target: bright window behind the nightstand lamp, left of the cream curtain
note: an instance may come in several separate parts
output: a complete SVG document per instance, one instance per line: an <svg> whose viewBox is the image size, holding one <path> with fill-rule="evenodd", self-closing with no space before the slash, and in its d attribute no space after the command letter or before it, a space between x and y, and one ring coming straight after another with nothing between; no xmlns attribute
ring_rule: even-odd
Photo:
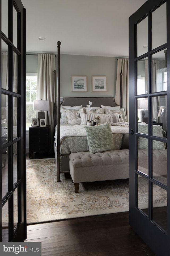
<svg viewBox="0 0 170 256"><path fill-rule="evenodd" d="M32 119L36 117L33 110L33 101L37 97L37 73L26 74L26 129L32 124Z"/></svg>

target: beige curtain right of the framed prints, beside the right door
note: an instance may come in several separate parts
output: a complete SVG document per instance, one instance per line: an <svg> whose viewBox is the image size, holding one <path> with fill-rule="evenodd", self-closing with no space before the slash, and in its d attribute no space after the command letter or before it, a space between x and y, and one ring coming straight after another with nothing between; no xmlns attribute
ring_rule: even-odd
<svg viewBox="0 0 170 256"><path fill-rule="evenodd" d="M115 102L121 105L120 73L122 73L122 106L125 108L127 121L129 121L129 59L117 59L117 78Z"/></svg>

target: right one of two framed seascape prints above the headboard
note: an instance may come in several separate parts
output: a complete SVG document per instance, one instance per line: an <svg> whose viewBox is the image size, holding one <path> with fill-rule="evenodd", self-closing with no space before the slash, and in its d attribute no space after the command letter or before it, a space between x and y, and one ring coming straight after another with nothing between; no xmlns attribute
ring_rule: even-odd
<svg viewBox="0 0 170 256"><path fill-rule="evenodd" d="M92 91L107 91L107 77L92 76Z"/></svg>

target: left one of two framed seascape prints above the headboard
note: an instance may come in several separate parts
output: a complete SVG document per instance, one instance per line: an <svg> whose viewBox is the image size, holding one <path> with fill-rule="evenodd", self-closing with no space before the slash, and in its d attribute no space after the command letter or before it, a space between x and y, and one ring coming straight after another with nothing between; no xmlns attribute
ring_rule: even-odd
<svg viewBox="0 0 170 256"><path fill-rule="evenodd" d="M87 91L87 75L72 75L71 91Z"/></svg>

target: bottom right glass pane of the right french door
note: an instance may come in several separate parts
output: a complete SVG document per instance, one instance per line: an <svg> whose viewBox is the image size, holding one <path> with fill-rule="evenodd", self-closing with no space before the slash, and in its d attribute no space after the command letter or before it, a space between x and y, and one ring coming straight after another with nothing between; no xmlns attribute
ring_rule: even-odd
<svg viewBox="0 0 170 256"><path fill-rule="evenodd" d="M164 231L167 231L167 191L153 183L152 194L152 219Z"/></svg>

